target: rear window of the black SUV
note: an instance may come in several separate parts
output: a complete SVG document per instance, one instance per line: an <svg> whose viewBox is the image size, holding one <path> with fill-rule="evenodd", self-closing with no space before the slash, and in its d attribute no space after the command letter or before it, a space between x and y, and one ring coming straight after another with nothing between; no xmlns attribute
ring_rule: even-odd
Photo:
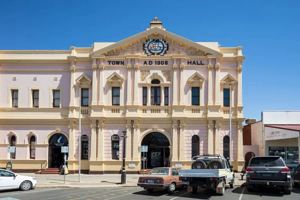
<svg viewBox="0 0 300 200"><path fill-rule="evenodd" d="M253 157L248 166L285 166L280 157Z"/></svg>

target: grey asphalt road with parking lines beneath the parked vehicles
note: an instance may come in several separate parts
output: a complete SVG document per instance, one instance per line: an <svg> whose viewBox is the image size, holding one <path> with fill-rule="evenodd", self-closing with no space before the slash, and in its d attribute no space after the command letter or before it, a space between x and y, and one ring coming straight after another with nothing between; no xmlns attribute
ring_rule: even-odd
<svg viewBox="0 0 300 200"><path fill-rule="evenodd" d="M300 188L292 190L290 195L284 195L275 189L263 191L247 192L245 187L234 189L226 188L224 196L216 196L210 190L199 189L197 194L188 192L185 188L176 189L173 194L168 194L165 190L148 193L140 187L98 187L98 188L35 188L29 191L0 191L1 200L46 200L46 199L100 199L100 200L140 200L140 199L223 199L223 200L252 200L252 199L288 199L299 200Z"/></svg>

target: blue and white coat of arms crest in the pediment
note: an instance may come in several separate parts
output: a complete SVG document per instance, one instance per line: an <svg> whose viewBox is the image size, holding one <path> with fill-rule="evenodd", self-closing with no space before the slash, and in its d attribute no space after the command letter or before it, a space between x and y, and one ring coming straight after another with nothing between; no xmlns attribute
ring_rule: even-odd
<svg viewBox="0 0 300 200"><path fill-rule="evenodd" d="M149 38L143 44L143 50L147 55L163 55L168 50L168 44L162 38Z"/></svg>

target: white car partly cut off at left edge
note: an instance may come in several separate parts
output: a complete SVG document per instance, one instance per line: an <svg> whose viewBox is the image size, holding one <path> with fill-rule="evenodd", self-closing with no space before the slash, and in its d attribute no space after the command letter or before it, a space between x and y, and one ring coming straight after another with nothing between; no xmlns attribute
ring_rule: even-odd
<svg viewBox="0 0 300 200"><path fill-rule="evenodd" d="M17 189L29 190L35 187L36 179L34 177L19 175L5 169L0 169L0 190Z"/></svg>

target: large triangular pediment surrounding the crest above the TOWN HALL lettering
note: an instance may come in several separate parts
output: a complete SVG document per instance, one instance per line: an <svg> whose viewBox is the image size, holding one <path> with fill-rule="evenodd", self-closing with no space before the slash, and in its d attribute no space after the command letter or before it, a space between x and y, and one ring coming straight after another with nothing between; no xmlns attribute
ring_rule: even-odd
<svg viewBox="0 0 300 200"><path fill-rule="evenodd" d="M163 39L168 44L168 50L164 55L217 55L222 53L207 46L188 40L184 37L178 36L159 27L151 27L136 35L108 45L104 48L98 49L90 53L91 57L100 54L108 56L122 56L122 55L147 55L143 50L143 45L148 39ZM152 55L151 55L152 56ZM156 55L157 56L157 55Z"/></svg>

